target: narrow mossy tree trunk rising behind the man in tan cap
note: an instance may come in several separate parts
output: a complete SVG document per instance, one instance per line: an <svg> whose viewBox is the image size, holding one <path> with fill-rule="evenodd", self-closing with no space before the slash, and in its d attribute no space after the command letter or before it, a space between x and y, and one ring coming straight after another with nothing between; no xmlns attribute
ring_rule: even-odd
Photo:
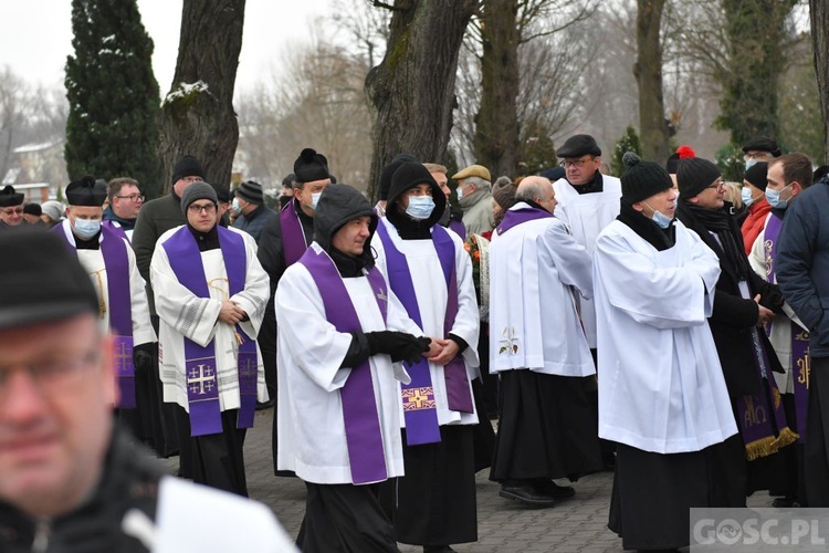
<svg viewBox="0 0 829 553"><path fill-rule="evenodd" d="M475 163L493 179L515 176L518 160L518 2L485 0L481 21L481 107L475 115ZM532 86L532 84L531 84Z"/></svg>

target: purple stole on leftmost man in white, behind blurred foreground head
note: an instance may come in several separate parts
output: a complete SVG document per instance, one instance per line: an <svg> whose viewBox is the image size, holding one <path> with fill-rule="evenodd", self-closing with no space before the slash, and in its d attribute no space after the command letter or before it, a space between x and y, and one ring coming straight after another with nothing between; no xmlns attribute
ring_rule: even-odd
<svg viewBox="0 0 829 553"><path fill-rule="evenodd" d="M63 225L54 231L67 240ZM123 233L123 230L122 230ZM75 249L73 242L69 242ZM101 227L101 254L106 268L106 292L109 300L109 330L115 346L115 369L120 397L116 407L135 409L135 365L133 364L133 296L129 293L129 257L122 236L108 227ZM104 291L102 290L103 294ZM103 313L102 313L103 316Z"/></svg>

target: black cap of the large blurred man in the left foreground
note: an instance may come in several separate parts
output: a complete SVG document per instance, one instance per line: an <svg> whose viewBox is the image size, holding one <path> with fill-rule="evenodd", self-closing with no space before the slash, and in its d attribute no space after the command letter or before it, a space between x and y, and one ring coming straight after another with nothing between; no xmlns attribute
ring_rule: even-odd
<svg viewBox="0 0 829 553"><path fill-rule="evenodd" d="M20 226L0 232L0 328L98 312L98 299L75 250L54 232ZM60 275L55 275L55 268Z"/></svg>

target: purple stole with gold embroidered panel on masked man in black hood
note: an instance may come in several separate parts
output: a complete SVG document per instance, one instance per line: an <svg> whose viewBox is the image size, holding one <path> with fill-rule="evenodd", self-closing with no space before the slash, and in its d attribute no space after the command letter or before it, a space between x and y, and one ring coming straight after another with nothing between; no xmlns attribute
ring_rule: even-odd
<svg viewBox="0 0 829 553"><path fill-rule="evenodd" d="M389 237L386 226L381 221L377 226L377 234L380 237L382 248L386 252L386 268L388 270L389 283L395 295L406 307L409 317L423 327L420 316L418 299L414 294L414 284L411 281L411 271L406 255L395 247ZM436 225L432 227L432 242L438 252L443 278L447 283L448 301L447 312L443 319L444 337L454 325L458 315L458 279L454 264L454 243L449 231ZM417 446L421 444L434 444L440 441L440 426L438 424L438 410L434 403L434 388L429 372L429 361L423 357L414 365L408 365L411 375L410 384L401 384L403 401L403 419L406 421L406 444ZM474 413L472 395L469 390L469 378L466 365L461 355L443 367L443 376L447 383L447 403L451 410L461 413Z"/></svg>

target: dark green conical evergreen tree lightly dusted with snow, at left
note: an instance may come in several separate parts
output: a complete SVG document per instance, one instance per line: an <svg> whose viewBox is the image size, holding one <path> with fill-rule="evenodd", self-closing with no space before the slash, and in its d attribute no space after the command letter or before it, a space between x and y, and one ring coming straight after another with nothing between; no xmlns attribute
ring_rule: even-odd
<svg viewBox="0 0 829 553"><path fill-rule="evenodd" d="M133 177L158 196L159 106L153 40L136 0L72 0L66 60L66 169L70 178Z"/></svg>

